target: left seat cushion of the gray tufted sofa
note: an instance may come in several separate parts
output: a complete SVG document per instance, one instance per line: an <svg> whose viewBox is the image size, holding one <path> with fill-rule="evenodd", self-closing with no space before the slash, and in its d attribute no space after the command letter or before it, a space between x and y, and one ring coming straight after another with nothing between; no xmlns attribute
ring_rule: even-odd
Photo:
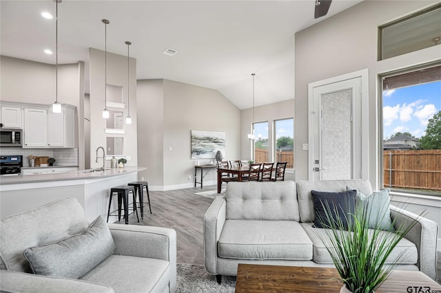
<svg viewBox="0 0 441 293"><path fill-rule="evenodd" d="M311 260L312 242L297 221L225 221L218 257Z"/></svg>

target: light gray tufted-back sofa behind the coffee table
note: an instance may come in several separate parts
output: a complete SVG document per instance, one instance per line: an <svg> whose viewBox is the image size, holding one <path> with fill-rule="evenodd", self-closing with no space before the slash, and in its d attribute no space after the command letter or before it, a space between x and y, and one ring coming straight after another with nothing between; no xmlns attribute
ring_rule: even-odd
<svg viewBox="0 0 441 293"><path fill-rule="evenodd" d="M372 194L367 180L230 182L225 198L217 197L205 214L206 270L216 274L220 283L222 275L236 276L238 263L333 267L316 235L324 229L312 227L311 191L342 192L347 186ZM403 252L397 270L420 270L436 279L438 225L402 208L389 207L396 224L409 219L418 223L387 263Z"/></svg>

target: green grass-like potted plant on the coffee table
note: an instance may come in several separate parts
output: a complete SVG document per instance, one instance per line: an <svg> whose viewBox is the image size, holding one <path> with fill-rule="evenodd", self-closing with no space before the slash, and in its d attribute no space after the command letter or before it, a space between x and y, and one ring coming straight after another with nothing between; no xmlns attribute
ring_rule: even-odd
<svg viewBox="0 0 441 293"><path fill-rule="evenodd" d="M376 210L372 213L376 216L376 228L368 228L371 210L357 204L353 215L350 214L353 217L345 215L348 223L345 227L341 218L332 217L332 211L334 215L338 215L338 207L329 206L327 202L322 202L322 206L325 216L319 216L318 221L326 228L316 231L316 235L331 254L340 280L353 293L374 292L396 268L405 251L396 257L393 264L384 265L387 257L417 221L398 225L393 220L392 224L396 230L387 232L378 228L382 220L378 215L390 216Z"/></svg>

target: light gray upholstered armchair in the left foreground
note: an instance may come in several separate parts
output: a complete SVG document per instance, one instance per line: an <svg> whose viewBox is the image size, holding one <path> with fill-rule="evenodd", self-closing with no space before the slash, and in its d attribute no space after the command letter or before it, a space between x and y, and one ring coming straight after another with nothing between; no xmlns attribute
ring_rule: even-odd
<svg viewBox="0 0 441 293"><path fill-rule="evenodd" d="M108 224L101 228L112 239L110 255L102 254L105 240L89 224L74 198L61 199L0 221L1 292L174 292L176 290L176 232L170 228ZM105 226L105 221L102 221ZM103 226L101 224L101 226ZM96 224L98 226L98 224ZM92 227L92 228L91 228ZM110 232L109 232L110 230ZM89 232L89 235L87 234ZM85 251L65 241L86 239ZM79 243L78 246L84 243ZM54 248L55 246L55 248ZM31 259L29 251L48 253L46 263ZM54 250L61 248L47 261ZM92 253L96 249L96 253ZM23 251L26 250L25 255ZM60 254L61 253L61 254ZM65 253L63 257L63 253ZM29 254L32 256L32 254ZM38 254L37 254L38 255ZM87 257L84 257L86 255ZM33 256L32 256L33 257ZM28 259L29 258L29 259ZM54 260L54 261L53 261ZM84 262L83 263L81 262ZM97 262L79 278L59 272ZM32 274L46 265L52 273ZM59 270L58 270L59 269ZM75 274L75 272L68 272Z"/></svg>

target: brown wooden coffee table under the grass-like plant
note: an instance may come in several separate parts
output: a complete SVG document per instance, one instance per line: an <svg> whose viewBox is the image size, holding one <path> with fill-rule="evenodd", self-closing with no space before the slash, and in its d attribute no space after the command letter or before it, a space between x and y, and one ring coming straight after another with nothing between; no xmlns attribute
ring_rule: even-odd
<svg viewBox="0 0 441 293"><path fill-rule="evenodd" d="M240 263L237 270L236 293L338 293L341 287L342 283L338 280L335 268ZM411 287L411 291L408 287ZM422 291L419 291L420 287ZM441 285L422 272L395 270L376 293L433 292L433 290L441 290Z"/></svg>

